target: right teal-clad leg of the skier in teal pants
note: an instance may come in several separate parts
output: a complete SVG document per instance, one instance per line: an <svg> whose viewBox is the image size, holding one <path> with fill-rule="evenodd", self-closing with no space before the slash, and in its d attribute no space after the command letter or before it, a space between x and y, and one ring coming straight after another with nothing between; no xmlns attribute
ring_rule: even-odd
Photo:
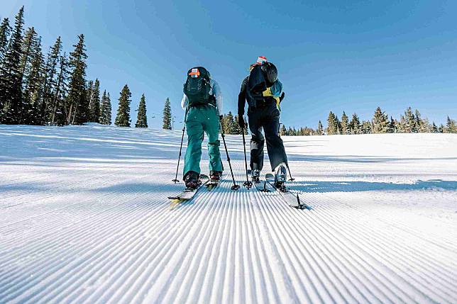
<svg viewBox="0 0 457 304"><path fill-rule="evenodd" d="M202 107L204 112L204 130L208 135L209 171L222 171L219 147L219 117L213 106Z"/></svg>

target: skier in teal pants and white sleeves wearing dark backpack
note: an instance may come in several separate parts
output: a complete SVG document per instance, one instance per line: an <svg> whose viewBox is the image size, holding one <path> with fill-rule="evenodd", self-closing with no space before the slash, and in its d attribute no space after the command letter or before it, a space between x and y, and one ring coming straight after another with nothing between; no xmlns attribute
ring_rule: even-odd
<svg viewBox="0 0 457 304"><path fill-rule="evenodd" d="M189 69L183 91L181 106L187 111L187 150L183 175L187 188L197 188L204 133L208 136L209 177L211 181L219 181L221 178L219 119L222 113L222 95L219 84L211 79L204 67Z"/></svg>

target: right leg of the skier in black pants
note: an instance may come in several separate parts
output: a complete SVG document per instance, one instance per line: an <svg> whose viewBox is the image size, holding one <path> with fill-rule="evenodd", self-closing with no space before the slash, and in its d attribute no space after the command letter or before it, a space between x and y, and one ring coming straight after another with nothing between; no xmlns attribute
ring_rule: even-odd
<svg viewBox="0 0 457 304"><path fill-rule="evenodd" d="M284 143L279 135L280 111L275 104L268 107L268 112L263 120L263 130L267 142L268 158L270 159L271 170L284 163L287 165L287 154L285 153Z"/></svg>

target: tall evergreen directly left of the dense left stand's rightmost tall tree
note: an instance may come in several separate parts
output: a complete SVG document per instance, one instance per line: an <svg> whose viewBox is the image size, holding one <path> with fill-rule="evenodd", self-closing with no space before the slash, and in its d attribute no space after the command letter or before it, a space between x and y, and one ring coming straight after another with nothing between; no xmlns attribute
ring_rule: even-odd
<svg viewBox="0 0 457 304"><path fill-rule="evenodd" d="M55 94L59 94L61 88L58 86L62 83L62 79L64 77L65 80L67 79L67 69L65 62L61 62L62 56L60 55L60 52L62 52L62 41L59 36L53 47L50 47L45 64L43 100L40 109L40 118L42 119L43 125L48 123L51 125L54 124L55 112L57 111L58 106Z"/></svg>

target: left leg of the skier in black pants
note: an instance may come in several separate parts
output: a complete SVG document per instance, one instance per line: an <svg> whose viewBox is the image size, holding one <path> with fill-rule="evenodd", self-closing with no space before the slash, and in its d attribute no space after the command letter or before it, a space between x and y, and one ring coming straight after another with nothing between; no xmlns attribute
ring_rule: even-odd
<svg viewBox="0 0 457 304"><path fill-rule="evenodd" d="M262 109L248 112L250 137L250 169L262 171L263 168L263 145L265 138L262 134Z"/></svg>

